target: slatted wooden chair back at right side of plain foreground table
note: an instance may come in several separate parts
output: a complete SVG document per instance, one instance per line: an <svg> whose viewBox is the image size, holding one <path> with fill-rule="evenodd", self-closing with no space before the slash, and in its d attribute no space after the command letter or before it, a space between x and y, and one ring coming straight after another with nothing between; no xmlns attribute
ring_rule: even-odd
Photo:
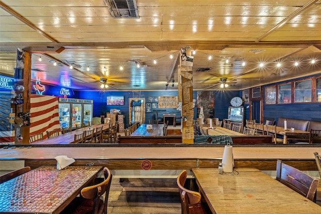
<svg viewBox="0 0 321 214"><path fill-rule="evenodd" d="M292 167L281 160L276 162L276 180L300 193L307 199L315 201L314 195L318 179Z"/></svg>

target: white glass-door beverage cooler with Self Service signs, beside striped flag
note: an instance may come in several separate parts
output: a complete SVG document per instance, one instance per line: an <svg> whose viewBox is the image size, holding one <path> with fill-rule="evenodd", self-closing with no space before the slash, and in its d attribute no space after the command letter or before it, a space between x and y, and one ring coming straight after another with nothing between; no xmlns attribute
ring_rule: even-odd
<svg viewBox="0 0 321 214"><path fill-rule="evenodd" d="M93 100L59 98L60 128L92 121Z"/></svg>

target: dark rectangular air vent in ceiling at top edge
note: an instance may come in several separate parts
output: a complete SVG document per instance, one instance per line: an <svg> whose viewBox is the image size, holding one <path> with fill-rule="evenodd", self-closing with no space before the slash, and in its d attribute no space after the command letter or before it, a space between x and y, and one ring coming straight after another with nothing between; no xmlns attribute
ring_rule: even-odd
<svg viewBox="0 0 321 214"><path fill-rule="evenodd" d="M105 3L114 18L139 18L135 0L105 0Z"/></svg>

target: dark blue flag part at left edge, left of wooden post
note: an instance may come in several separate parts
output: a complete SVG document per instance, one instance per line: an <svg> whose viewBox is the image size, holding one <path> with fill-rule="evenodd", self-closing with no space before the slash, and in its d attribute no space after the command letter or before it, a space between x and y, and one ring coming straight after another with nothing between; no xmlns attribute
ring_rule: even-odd
<svg viewBox="0 0 321 214"><path fill-rule="evenodd" d="M9 123L9 113L12 113L10 91L0 91L0 143L14 143L14 124ZM14 119L14 118L11 118Z"/></svg>

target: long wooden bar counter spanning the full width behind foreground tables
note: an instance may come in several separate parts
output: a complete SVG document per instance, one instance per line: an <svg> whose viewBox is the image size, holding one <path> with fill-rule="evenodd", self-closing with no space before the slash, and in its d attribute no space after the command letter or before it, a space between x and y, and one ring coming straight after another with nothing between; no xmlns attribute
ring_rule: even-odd
<svg viewBox="0 0 321 214"><path fill-rule="evenodd" d="M192 169L218 167L222 161L224 145L35 145L32 148L0 148L0 166L6 161L23 160L26 166L56 165L57 155L67 155L76 160L75 165L93 162L110 169L139 169L148 159L151 169ZM233 145L235 167L255 167L259 170L275 170L276 160L300 170L317 170L313 152L321 153L320 145ZM4 162L5 161L5 162Z"/></svg>

